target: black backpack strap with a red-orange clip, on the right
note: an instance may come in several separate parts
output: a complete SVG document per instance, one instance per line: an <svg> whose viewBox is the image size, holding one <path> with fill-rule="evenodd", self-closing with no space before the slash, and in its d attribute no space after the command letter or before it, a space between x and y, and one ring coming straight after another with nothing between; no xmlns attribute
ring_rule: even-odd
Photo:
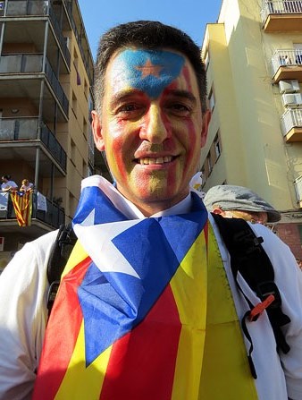
<svg viewBox="0 0 302 400"><path fill-rule="evenodd" d="M274 282L274 271L271 260L264 251L261 243L262 237L257 237L253 229L242 218L224 218L217 214L212 214L216 225L222 235L222 239L231 255L231 271L234 276L239 291L250 307L242 321L242 328L247 329L245 320L254 321L260 315L255 312L255 307L243 293L238 283L238 272L247 282L247 285L256 293L270 319L273 334L276 339L277 351L289 352L289 345L281 331L281 327L290 322L290 319L281 310L281 295Z"/></svg>

